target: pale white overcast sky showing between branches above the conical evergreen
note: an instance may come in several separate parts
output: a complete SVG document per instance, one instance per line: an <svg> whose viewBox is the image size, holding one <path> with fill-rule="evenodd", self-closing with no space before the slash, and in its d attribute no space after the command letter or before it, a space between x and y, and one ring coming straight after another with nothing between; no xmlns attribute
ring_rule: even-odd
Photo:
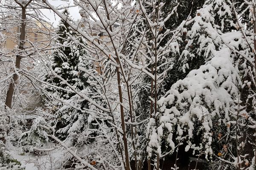
<svg viewBox="0 0 256 170"><path fill-rule="evenodd" d="M70 4L70 6L73 6L73 0L66 0L66 1L62 1L62 0L48 0L49 3L51 3L53 6L59 7L59 6L68 6L68 4ZM57 26L58 25L58 21L60 20L60 17L58 17L56 14L54 14L53 11L51 10L47 10L47 9L43 9L42 10L44 12L44 14L47 16L47 18L49 18L49 23L53 23L53 26ZM69 12L70 15L73 17L74 20L78 20L81 18L80 14L79 14L79 8L78 6L76 7L72 7L69 8Z"/></svg>

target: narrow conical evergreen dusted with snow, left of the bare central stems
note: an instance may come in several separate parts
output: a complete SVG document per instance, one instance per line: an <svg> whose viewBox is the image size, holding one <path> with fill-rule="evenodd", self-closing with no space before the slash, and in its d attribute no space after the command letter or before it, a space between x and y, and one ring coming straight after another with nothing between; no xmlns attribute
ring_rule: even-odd
<svg viewBox="0 0 256 170"><path fill-rule="evenodd" d="M67 10L63 14L68 16ZM95 97L98 95L97 89L90 86L89 76L81 71L81 68L92 74L97 73L93 68L93 63L88 60L89 56L84 48L86 41L83 37L72 31L64 20L60 21L57 34L58 38L55 43L61 47L52 51L51 66L55 74L66 82L52 73L49 73L47 77L47 82L59 87L57 90L49 87L50 96L57 99L55 103L48 103L48 105L57 105L54 109L57 119L52 123L55 124L56 136L59 139L71 145L84 144L83 142L92 141L87 136L95 135L95 132L91 133L89 130L96 128L95 120L90 117L88 111L85 111L90 109L89 102L73 92L69 85L80 94L87 97L94 96L94 99L100 102ZM76 41L73 41L71 37L74 37Z"/></svg>

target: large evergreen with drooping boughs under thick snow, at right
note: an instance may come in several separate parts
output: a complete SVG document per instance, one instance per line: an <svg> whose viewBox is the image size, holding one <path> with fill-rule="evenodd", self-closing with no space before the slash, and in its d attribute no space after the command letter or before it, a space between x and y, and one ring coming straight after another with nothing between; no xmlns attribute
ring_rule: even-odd
<svg viewBox="0 0 256 170"><path fill-rule="evenodd" d="M246 126L248 111L238 103L241 102L240 94L244 93L241 87L244 78L241 77L247 77L244 71L250 64L240 55L249 60L253 56L241 32L234 32L236 27L235 11L229 0L207 0L185 25L177 39L181 47L180 55L175 57L170 69L169 75L172 76L166 78L170 90L158 102L160 114L154 117L157 122L149 124L149 138L152 139L149 151L173 152L185 139L185 150L192 150L197 156L204 155L205 159L215 160L214 154L227 161L235 159L236 132L233 122L238 121L239 142L249 139ZM183 77L181 80L175 77L179 73L182 76L177 77ZM244 116L236 119L234 115L237 112L243 112ZM244 146L241 148L240 153ZM250 152L247 150L244 153ZM250 153L247 157L252 155ZM218 168L233 169L233 165L219 164Z"/></svg>

